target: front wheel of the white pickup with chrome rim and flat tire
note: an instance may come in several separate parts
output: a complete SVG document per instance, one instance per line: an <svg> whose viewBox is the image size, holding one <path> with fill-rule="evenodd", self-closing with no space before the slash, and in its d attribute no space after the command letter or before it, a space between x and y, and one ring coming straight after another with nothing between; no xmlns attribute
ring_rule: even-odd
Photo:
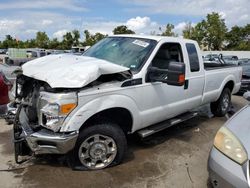
<svg viewBox="0 0 250 188"><path fill-rule="evenodd" d="M99 170L122 162L127 140L113 123L101 123L83 129L72 153L75 170Z"/></svg>

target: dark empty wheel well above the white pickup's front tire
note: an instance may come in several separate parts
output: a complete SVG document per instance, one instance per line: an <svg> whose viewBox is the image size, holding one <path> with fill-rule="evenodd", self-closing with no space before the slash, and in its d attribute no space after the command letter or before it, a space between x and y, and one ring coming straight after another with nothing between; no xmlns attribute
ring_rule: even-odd
<svg viewBox="0 0 250 188"><path fill-rule="evenodd" d="M81 127L84 129L86 126L91 126L100 122L113 122L119 125L125 134L132 131L133 118L131 113L125 108L110 108L98 112L91 116ZM80 129L80 131L81 131Z"/></svg>

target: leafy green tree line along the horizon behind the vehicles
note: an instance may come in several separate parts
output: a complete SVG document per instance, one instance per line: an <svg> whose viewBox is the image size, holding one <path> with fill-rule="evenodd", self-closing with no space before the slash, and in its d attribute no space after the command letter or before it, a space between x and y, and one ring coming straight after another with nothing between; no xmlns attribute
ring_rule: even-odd
<svg viewBox="0 0 250 188"><path fill-rule="evenodd" d="M174 25L167 23L164 30L159 28L162 36L175 36ZM113 34L134 34L125 25L114 28ZM156 35L153 31L151 34ZM85 40L80 41L81 35L78 30L67 32L63 35L62 41L57 38L49 39L45 32L37 32L35 39L18 41L10 35L6 35L3 41L0 41L0 48L45 48L45 49L70 49L72 46L92 46L107 35L101 33L92 34L88 30L84 31ZM182 36L187 39L198 41L203 49L207 50L250 50L250 24L246 26L234 26L230 30L225 24L225 20L218 13L211 13L201 22L193 26L186 23L182 31Z"/></svg>

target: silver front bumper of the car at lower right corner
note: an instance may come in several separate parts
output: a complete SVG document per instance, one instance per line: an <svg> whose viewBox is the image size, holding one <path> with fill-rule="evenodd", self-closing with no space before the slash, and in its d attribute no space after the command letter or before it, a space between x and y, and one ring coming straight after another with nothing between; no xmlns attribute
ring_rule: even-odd
<svg viewBox="0 0 250 188"><path fill-rule="evenodd" d="M249 161L241 166L214 147L208 159L208 172L215 188L249 188Z"/></svg>

